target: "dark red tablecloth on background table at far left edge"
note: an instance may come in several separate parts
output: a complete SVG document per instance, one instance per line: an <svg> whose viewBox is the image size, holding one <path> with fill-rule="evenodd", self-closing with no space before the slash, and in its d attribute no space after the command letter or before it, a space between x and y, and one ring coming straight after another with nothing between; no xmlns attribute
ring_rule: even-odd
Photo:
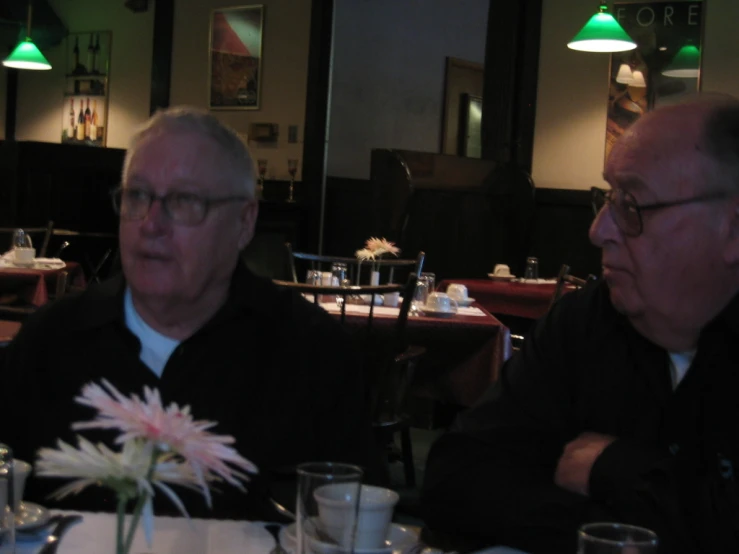
<svg viewBox="0 0 739 554"><path fill-rule="evenodd" d="M13 293L26 303L43 306L49 301L49 290L56 289L56 281L62 271L68 273L69 281L79 287L85 286L85 274L76 262L66 262L59 269L0 268L0 293Z"/></svg>

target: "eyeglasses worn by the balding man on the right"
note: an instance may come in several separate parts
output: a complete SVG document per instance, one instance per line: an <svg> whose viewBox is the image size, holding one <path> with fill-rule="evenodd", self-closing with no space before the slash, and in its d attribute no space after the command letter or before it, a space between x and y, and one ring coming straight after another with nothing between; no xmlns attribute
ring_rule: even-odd
<svg viewBox="0 0 739 554"><path fill-rule="evenodd" d="M630 237L638 237L644 231L642 212L694 204L696 202L722 200L730 196L726 192L714 192L693 198L674 200L672 202L657 202L655 204L640 206L630 193L622 189L603 190L598 187L592 187L590 192L592 194L591 201L595 215L597 216L603 209L603 206L608 204L616 225L625 235Z"/></svg>

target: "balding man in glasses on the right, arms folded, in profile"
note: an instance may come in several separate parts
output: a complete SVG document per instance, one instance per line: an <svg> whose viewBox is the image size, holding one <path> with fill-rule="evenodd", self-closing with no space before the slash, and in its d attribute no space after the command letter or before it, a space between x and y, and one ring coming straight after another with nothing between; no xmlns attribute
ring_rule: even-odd
<svg viewBox="0 0 739 554"><path fill-rule="evenodd" d="M604 177L603 278L557 302L431 450L441 542L571 554L582 524L616 521L660 552L739 550L739 102L647 114Z"/></svg>

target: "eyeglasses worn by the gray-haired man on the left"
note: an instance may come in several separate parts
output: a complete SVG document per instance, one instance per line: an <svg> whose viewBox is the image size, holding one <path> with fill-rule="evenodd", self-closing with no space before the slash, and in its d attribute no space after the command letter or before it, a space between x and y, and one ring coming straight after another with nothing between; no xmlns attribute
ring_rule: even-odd
<svg viewBox="0 0 739 554"><path fill-rule="evenodd" d="M204 198L191 192L170 192L159 196L148 190L126 187L117 188L112 195L113 209L121 219L129 221L144 219L154 200L159 200L167 217L175 223L186 226L200 225L213 206L249 200L246 196Z"/></svg>

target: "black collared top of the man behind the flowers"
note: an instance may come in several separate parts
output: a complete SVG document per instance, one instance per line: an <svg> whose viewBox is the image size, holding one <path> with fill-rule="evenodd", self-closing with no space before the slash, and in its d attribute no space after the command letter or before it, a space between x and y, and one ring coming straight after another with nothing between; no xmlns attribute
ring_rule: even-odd
<svg viewBox="0 0 739 554"><path fill-rule="evenodd" d="M351 461L368 467L370 480L377 476L361 365L325 311L240 266L226 304L177 347L158 378L139 360L139 340L125 326L124 289L119 277L62 298L29 318L8 347L2 375L8 425L0 442L17 458L32 462L58 438L76 444L70 424L94 412L73 398L104 377L124 394L141 395L148 385L165 405L190 405L195 419L218 422L212 431L235 437L235 448L259 467L247 495L220 485L213 511L177 487L191 515L274 518L265 501L275 494L270 487L290 481L303 461ZM110 443L113 434L85 436ZM57 505L46 495L64 482L32 477L26 498ZM58 505L115 509L100 490ZM157 511L171 511L168 501Z"/></svg>

